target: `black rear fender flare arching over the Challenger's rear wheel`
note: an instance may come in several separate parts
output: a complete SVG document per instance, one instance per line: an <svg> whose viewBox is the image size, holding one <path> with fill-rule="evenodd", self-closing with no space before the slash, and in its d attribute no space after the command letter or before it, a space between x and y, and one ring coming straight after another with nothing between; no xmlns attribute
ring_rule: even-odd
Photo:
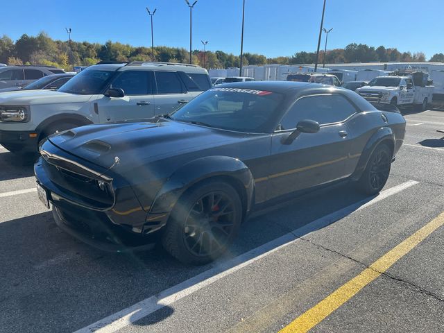
<svg viewBox="0 0 444 333"><path fill-rule="evenodd" d="M382 144L382 142L388 144L388 146L391 148L392 154L395 153L395 135L393 130L389 127L379 128L379 130L373 133L370 139L368 139L366 146L362 150L355 172L351 176L352 180L359 180L359 178L361 178L362 173L364 173L364 170L367 167L370 156L375 148L379 144Z"/></svg>

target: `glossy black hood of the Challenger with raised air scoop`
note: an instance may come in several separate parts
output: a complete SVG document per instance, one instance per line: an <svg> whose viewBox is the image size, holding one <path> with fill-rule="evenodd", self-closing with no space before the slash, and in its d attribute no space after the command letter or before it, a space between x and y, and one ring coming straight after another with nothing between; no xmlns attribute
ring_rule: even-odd
<svg viewBox="0 0 444 333"><path fill-rule="evenodd" d="M169 156L238 142L247 136L153 118L83 126L49 137L49 141L100 167L113 166L113 171L125 171Z"/></svg>

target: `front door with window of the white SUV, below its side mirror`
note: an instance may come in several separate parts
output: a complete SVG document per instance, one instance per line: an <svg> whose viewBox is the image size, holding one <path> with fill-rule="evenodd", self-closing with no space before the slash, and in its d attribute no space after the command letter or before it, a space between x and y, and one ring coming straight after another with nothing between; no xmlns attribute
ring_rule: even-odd
<svg viewBox="0 0 444 333"><path fill-rule="evenodd" d="M123 97L108 97L97 101L99 118L102 122L154 117L151 71L122 71L110 84L120 88Z"/></svg>

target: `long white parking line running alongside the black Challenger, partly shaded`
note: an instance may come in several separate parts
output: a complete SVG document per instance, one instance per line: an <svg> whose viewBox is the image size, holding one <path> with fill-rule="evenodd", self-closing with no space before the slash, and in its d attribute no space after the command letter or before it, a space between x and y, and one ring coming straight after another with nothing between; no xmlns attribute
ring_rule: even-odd
<svg viewBox="0 0 444 333"><path fill-rule="evenodd" d="M307 225L302 226L294 230L293 232L289 232L288 234L284 234L283 236L274 239L273 241L269 241L268 243L254 248L238 257L228 260L228 262L224 263L216 263L213 268L210 268L208 271L200 273L194 278L190 278L176 286L173 286L169 289L161 291L155 296L151 296L137 302L135 305L127 307L111 316L101 319L96 323L84 327L74 333L90 333L90 332L100 332L100 333L112 333L120 330L123 327L134 323L135 321L139 321L139 319L152 314L158 309L162 309L167 305L173 304L177 300L184 298L185 296L189 296L195 291L202 289L203 287L207 287L208 285L221 280L227 275L230 275L239 269L252 264L253 262L257 262L257 260L262 259L271 253L275 253L280 250L284 246L288 246L297 241L302 235L307 235L315 230L320 228L324 228L339 219L343 219L345 216L348 216L352 212L357 212L358 210L363 209L364 207L368 207L377 203L380 200L387 198L388 196L392 196L393 194L397 194L400 191L407 189L413 185L418 184L418 182L414 180L409 180L408 182L404 182L400 185L392 187L391 189L386 189L382 191L379 196L376 196L372 200L368 201L367 199L361 200L358 203L354 203L348 207L345 207L341 210L328 214L326 216L321 217L321 219L317 219L308 223Z"/></svg>

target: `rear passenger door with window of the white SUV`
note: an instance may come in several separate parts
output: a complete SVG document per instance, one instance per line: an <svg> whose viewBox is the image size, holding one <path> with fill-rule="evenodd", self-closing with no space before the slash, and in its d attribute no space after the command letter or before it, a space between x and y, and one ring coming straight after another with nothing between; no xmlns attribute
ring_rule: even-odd
<svg viewBox="0 0 444 333"><path fill-rule="evenodd" d="M194 98L175 71L154 71L155 114L168 114Z"/></svg>

